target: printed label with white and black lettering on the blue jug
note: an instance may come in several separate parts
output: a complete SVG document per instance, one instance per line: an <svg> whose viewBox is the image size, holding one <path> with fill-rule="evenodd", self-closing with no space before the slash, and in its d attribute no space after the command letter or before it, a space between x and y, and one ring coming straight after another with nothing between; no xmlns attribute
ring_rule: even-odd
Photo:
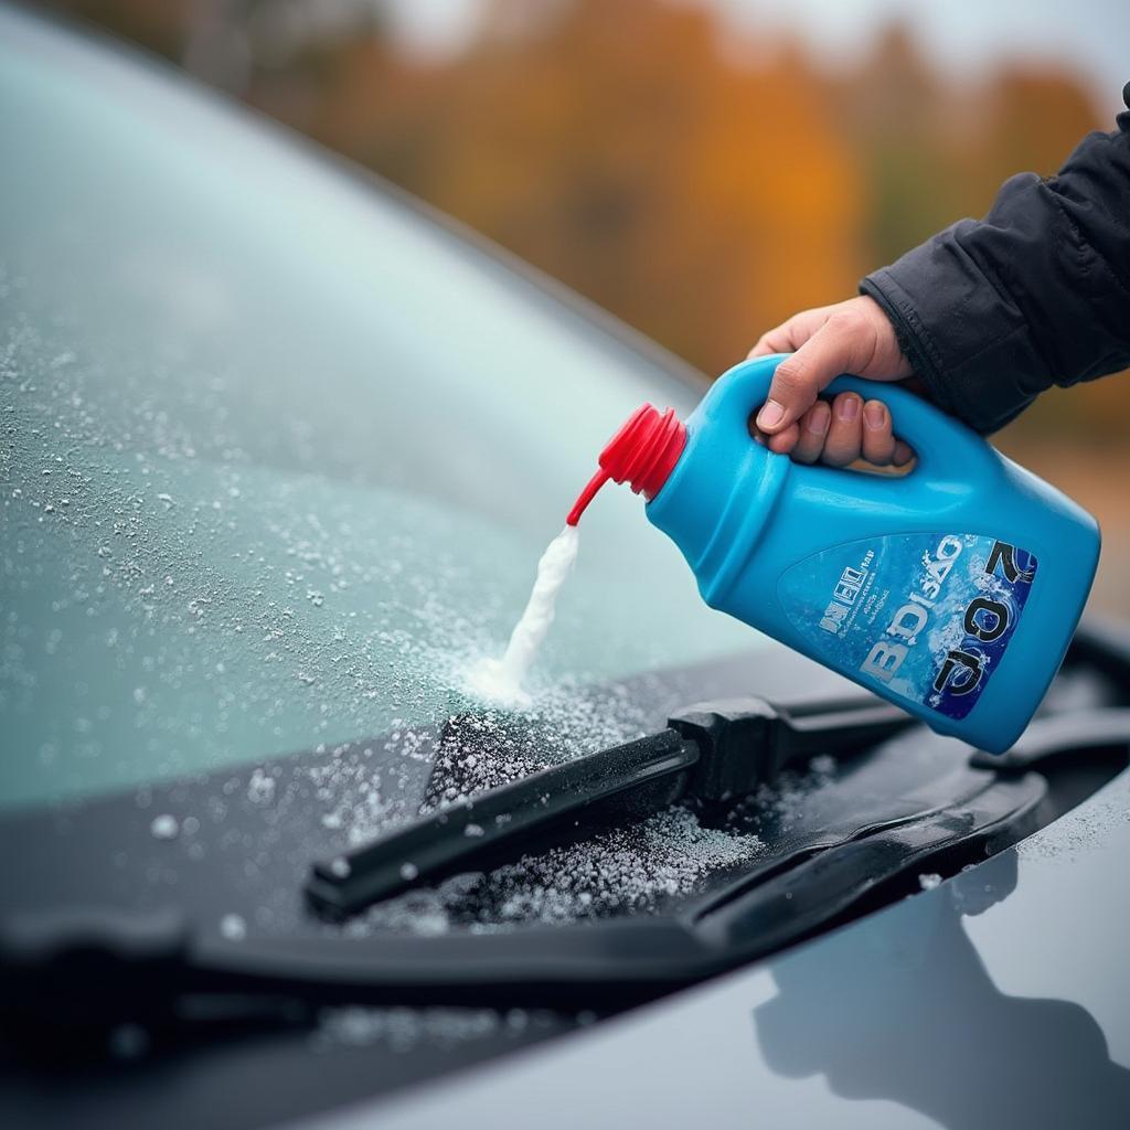
<svg viewBox="0 0 1130 1130"><path fill-rule="evenodd" d="M962 719L1000 664L1036 576L1025 549L975 533L899 533L814 554L777 594L817 657Z"/></svg>

